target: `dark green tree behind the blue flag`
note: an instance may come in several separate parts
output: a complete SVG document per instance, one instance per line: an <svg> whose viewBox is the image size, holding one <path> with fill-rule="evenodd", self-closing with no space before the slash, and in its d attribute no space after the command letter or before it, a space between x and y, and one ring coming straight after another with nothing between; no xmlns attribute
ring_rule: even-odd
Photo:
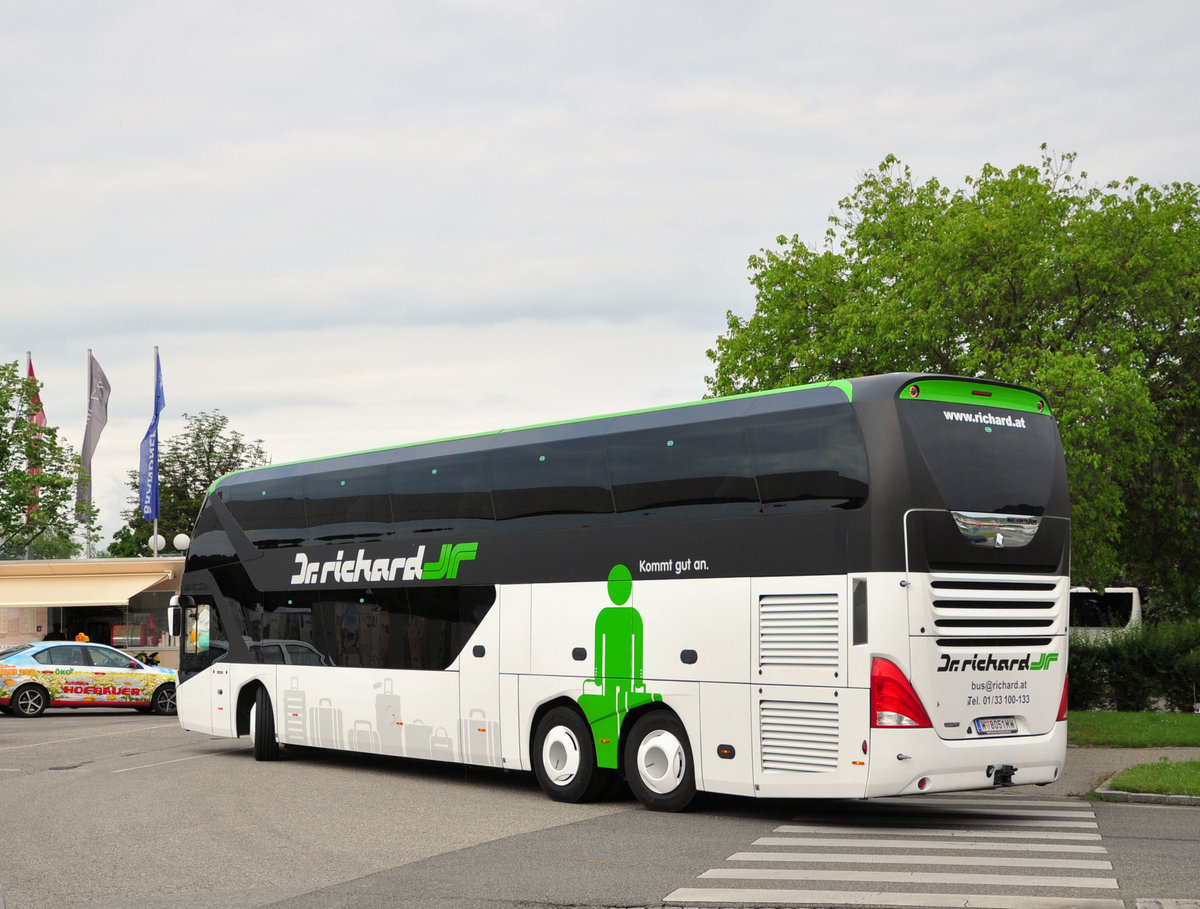
<svg viewBox="0 0 1200 909"><path fill-rule="evenodd" d="M167 439L158 452L158 532L168 543L178 534L191 534L209 487L234 470L268 463L262 439L247 441L229 428L220 411L184 414L184 432ZM138 474L128 474L130 507L121 512L126 524L114 535L108 555L145 555L154 524L138 507Z"/></svg>

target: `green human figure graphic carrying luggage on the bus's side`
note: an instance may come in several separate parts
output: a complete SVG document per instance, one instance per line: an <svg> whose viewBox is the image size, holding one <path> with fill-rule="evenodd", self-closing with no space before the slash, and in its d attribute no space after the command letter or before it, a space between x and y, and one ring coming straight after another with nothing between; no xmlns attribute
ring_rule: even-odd
<svg viewBox="0 0 1200 909"><path fill-rule="evenodd" d="M646 691L642 680L642 616L626 606L634 594L634 576L624 565L608 572L608 600L596 616L595 678L583 682L580 708L592 726L596 745L596 765L618 766L620 724L630 710L662 700L661 694ZM589 693L589 687L596 692Z"/></svg>

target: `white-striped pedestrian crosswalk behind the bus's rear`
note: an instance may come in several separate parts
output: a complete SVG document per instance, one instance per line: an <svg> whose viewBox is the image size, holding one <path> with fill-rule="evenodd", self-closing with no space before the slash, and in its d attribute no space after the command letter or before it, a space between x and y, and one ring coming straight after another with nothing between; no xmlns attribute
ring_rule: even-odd
<svg viewBox="0 0 1200 909"><path fill-rule="evenodd" d="M846 802L755 839L668 904L1123 909L1088 805L1004 795ZM809 886L805 886L809 885ZM845 889L833 889L834 885Z"/></svg>

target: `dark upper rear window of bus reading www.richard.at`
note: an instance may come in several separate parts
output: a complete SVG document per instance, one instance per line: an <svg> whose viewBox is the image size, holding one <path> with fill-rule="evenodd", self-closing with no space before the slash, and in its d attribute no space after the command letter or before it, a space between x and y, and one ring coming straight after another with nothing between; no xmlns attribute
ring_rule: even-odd
<svg viewBox="0 0 1200 909"><path fill-rule="evenodd" d="M937 401L899 408L944 507L1045 513L1061 451L1049 416Z"/></svg>

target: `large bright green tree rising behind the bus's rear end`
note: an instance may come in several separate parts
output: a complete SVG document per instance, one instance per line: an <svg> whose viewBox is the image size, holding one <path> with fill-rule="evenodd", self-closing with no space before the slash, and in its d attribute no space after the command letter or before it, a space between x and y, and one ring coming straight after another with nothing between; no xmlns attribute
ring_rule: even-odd
<svg viewBox="0 0 1200 909"><path fill-rule="evenodd" d="M893 371L989 377L1051 403L1078 583L1198 606L1200 200L1103 186L1075 155L984 165L956 189L888 156L820 247L750 257L756 307L708 351L714 395Z"/></svg>

